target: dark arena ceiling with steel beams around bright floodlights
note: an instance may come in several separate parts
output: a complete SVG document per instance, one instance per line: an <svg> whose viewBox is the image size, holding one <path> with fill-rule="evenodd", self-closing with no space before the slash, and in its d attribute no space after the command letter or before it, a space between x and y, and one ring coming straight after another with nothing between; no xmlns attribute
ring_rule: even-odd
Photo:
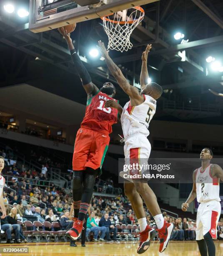
<svg viewBox="0 0 223 256"><path fill-rule="evenodd" d="M28 0L20 2L29 5ZM28 30L28 20L9 18L2 6L0 8L0 87L26 82L85 104L85 91L58 31L32 33ZM165 89L156 118L222 124L223 98L211 94L208 89L223 92L223 72L210 71L207 76L205 61L211 55L218 57L223 64L222 1L160 0L143 8L145 18L131 36L133 49L127 53L111 51L110 56L131 83L139 82L142 51L146 44L153 44L149 74L153 81ZM188 43L175 41L173 35L178 30L183 31ZM88 56L89 49L99 39L107 44L101 20L79 23L72 38L93 82L99 87L107 80L115 83L105 63ZM178 55L178 51L183 50L186 52L185 61L181 61ZM118 85L116 87L116 97L123 105L128 97ZM169 106L169 103L180 106L182 111L167 111L165 106ZM195 105L208 108L202 110L198 107L198 111L191 115L182 103L191 106L190 112L193 112ZM213 115L209 107L215 108ZM208 115L205 115L205 111L209 111Z"/></svg>

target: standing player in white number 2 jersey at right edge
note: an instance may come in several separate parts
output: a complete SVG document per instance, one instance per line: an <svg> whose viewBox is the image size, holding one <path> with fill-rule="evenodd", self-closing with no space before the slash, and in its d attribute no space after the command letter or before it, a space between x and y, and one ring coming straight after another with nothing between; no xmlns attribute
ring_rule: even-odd
<svg viewBox="0 0 223 256"><path fill-rule="evenodd" d="M195 197L200 203L197 212L196 241L201 256L215 256L213 239L217 238L217 224L221 212L219 181L223 181L223 169L218 164L210 164L212 158L213 152L210 148L203 148L200 153L201 167L193 172L193 189L186 202L182 204L182 210L186 211Z"/></svg>

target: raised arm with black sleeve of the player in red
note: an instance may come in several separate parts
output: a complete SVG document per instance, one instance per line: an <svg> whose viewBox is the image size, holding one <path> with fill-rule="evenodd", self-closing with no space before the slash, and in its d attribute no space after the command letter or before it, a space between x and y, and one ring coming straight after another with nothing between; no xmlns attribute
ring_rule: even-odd
<svg viewBox="0 0 223 256"><path fill-rule="evenodd" d="M98 92L98 87L96 87L95 84L91 81L90 75L85 68L84 64L80 60L80 57L77 54L77 51L72 43L72 39L70 38L70 34L67 33L67 30L64 30L64 28L58 28L58 31L60 34L65 38L67 41L68 47L70 49L70 55L73 60L73 64L75 66L75 69L78 72L78 75L81 79L81 82L83 84L83 87L88 94L88 97L92 97Z"/></svg>

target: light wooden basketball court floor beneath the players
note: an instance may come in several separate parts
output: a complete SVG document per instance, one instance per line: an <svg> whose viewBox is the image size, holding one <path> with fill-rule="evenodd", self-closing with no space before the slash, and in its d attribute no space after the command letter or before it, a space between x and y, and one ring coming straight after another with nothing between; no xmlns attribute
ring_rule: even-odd
<svg viewBox="0 0 223 256"><path fill-rule="evenodd" d="M26 243L13 245L12 247L28 247L29 253L1 253L0 255L29 255L29 256L136 256L139 255L136 250L138 243L121 242L121 243L86 243L86 247L81 247L77 243L77 247L70 247L70 243ZM0 244L0 249L5 247ZM150 248L143 255L150 256L200 256L198 246L195 241L191 242L170 242L168 248L163 252L158 252L159 243L153 242ZM216 256L223 255L223 242L216 241Z"/></svg>

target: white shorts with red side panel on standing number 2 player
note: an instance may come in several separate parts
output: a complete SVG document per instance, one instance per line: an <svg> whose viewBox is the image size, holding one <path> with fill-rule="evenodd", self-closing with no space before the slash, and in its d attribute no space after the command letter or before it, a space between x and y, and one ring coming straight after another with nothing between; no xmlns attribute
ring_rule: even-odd
<svg viewBox="0 0 223 256"><path fill-rule="evenodd" d="M196 240L204 239L206 233L210 233L213 239L217 239L217 225L221 212L220 202L211 200L200 203L196 221Z"/></svg>

